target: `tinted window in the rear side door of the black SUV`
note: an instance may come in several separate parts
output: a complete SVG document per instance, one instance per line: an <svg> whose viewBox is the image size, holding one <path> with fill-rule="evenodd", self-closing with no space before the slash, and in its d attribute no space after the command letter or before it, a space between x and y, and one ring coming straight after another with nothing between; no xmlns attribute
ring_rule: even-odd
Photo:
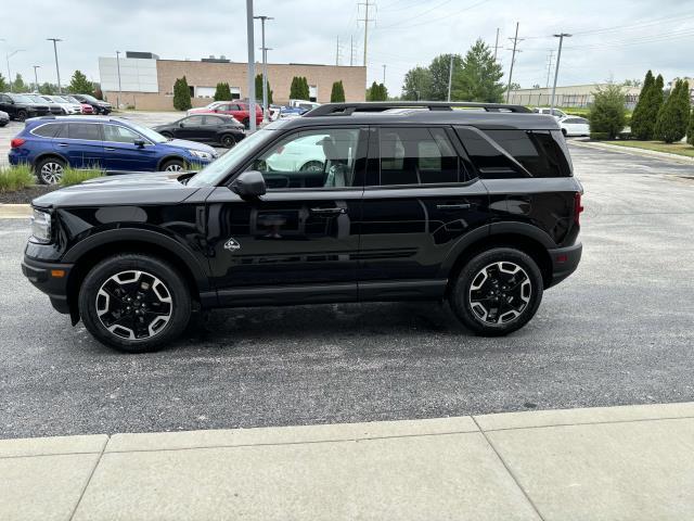
<svg viewBox="0 0 694 521"><path fill-rule="evenodd" d="M381 186L462 180L460 158L441 128L382 128L378 151Z"/></svg>

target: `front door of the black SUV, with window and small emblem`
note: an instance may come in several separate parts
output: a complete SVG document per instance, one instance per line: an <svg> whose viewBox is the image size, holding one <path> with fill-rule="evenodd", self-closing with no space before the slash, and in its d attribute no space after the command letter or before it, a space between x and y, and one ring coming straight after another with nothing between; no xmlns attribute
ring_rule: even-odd
<svg viewBox="0 0 694 521"><path fill-rule="evenodd" d="M304 144L304 160L270 167L307 138L313 147ZM244 165L262 173L266 195L245 201L227 187L215 189L207 200L208 250L222 305L357 298L364 138L358 127L278 137ZM318 156L322 168L301 168Z"/></svg>

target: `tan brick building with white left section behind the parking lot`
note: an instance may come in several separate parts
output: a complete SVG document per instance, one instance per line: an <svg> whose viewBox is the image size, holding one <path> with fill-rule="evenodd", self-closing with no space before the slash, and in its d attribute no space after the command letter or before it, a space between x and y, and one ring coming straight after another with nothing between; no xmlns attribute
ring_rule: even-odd
<svg viewBox="0 0 694 521"><path fill-rule="evenodd" d="M120 89L118 88L120 69ZM256 64L256 74L262 72ZM145 111L174 109L174 82L185 76L191 89L193 106L211 101L218 82L228 82L232 98L248 97L247 64L232 62L224 56L209 56L201 61L160 60L156 54L128 52L126 58L99 58L101 89L112 102ZM343 81L346 101L364 101L367 68L363 66L314 65L303 63L269 63L268 81L275 103L288 101L294 76L305 76L309 84L310 100L327 103L334 81ZM262 93L256 92L256 99Z"/></svg>

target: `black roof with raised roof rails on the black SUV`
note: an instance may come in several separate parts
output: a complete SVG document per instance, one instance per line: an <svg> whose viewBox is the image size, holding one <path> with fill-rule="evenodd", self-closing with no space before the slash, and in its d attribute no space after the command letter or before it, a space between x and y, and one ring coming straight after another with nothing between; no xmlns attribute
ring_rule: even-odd
<svg viewBox="0 0 694 521"><path fill-rule="evenodd" d="M461 110L457 110L461 109ZM471 125L486 129L555 130L553 116L523 105L472 102L326 103L300 117L285 119L283 128L314 125Z"/></svg>

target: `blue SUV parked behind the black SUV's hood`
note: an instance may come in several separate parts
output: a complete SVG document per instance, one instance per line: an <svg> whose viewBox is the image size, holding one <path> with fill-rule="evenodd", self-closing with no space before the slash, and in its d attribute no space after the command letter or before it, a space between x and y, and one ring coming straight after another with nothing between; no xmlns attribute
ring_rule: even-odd
<svg viewBox="0 0 694 521"><path fill-rule="evenodd" d="M116 117L44 116L27 119L12 140L9 157L12 165L30 164L40 182L54 185L66 166L114 174L178 171L211 163L217 153Z"/></svg>

